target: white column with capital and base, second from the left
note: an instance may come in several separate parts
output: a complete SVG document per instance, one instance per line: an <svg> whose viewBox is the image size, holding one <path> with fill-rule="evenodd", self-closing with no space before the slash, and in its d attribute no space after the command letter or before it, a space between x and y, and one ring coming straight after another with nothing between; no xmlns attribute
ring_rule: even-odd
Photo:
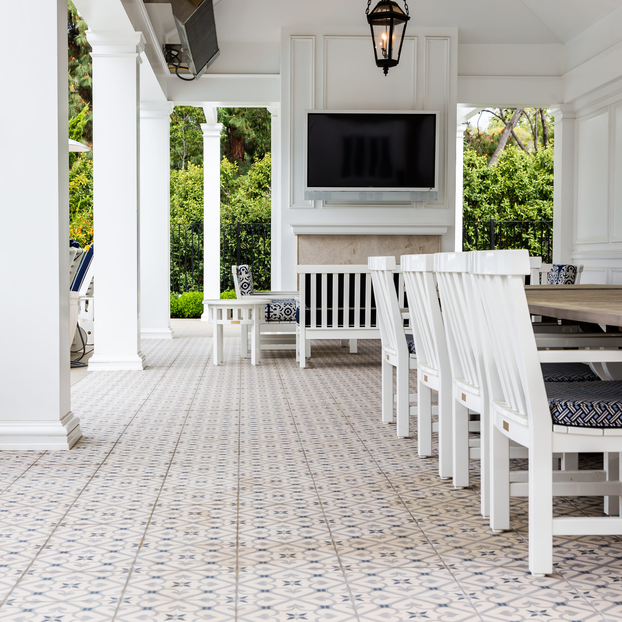
<svg viewBox="0 0 622 622"><path fill-rule="evenodd" d="M93 48L95 345L91 371L143 369L139 323L141 32L88 30Z"/></svg>

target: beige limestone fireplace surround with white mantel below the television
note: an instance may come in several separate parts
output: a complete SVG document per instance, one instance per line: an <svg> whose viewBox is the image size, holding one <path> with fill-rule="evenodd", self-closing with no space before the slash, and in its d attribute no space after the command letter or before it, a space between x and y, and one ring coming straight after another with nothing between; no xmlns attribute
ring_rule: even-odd
<svg viewBox="0 0 622 622"><path fill-rule="evenodd" d="M292 225L299 265L366 264L368 257L438 253L441 225Z"/></svg>

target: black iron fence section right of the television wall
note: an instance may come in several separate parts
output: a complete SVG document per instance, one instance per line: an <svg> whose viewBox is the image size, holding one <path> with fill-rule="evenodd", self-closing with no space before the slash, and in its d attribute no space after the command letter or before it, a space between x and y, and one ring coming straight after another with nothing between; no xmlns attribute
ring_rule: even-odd
<svg viewBox="0 0 622 622"><path fill-rule="evenodd" d="M526 248L542 263L553 261L552 220L465 220L462 223L462 250Z"/></svg>

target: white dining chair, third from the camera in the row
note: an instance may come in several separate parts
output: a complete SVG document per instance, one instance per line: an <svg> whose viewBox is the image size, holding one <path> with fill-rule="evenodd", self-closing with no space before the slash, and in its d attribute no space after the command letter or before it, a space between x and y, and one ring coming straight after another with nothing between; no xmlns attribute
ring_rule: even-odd
<svg viewBox="0 0 622 622"><path fill-rule="evenodd" d="M434 255L402 255L402 272L417 350L417 452L432 455L432 389L439 392L439 476L453 476L452 373L439 297Z"/></svg>

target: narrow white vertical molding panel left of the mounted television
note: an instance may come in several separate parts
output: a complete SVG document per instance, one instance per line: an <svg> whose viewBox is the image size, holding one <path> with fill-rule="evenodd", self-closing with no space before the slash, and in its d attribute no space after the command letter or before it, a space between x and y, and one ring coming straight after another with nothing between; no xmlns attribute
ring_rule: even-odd
<svg viewBox="0 0 622 622"><path fill-rule="evenodd" d="M315 108L315 36L292 35L289 42L289 207L313 209L304 200L304 111Z"/></svg>

